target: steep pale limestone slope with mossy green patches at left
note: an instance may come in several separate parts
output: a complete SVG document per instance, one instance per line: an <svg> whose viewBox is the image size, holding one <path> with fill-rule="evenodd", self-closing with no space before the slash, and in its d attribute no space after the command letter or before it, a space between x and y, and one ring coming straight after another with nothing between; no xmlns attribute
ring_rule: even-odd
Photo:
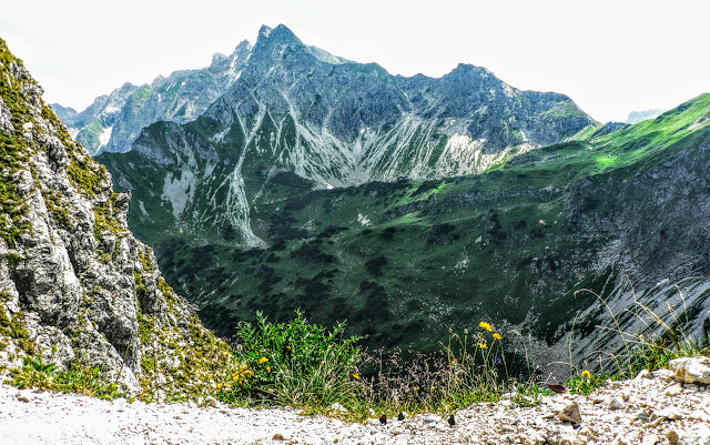
<svg viewBox="0 0 710 445"><path fill-rule="evenodd" d="M101 366L133 392L199 394L226 345L163 280L128 229L130 194L2 40L0 60L0 371L39 355Z"/></svg>

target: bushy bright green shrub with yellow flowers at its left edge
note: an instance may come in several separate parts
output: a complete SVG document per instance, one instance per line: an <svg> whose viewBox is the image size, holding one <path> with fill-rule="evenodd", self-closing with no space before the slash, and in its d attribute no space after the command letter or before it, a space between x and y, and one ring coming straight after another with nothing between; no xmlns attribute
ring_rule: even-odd
<svg viewBox="0 0 710 445"><path fill-rule="evenodd" d="M255 326L240 323L234 354L243 366L225 377L217 397L307 407L355 396L358 382L353 374L363 353L357 337L343 337L344 327L341 323L328 332L308 324L300 311L288 323L270 323L262 313Z"/></svg>

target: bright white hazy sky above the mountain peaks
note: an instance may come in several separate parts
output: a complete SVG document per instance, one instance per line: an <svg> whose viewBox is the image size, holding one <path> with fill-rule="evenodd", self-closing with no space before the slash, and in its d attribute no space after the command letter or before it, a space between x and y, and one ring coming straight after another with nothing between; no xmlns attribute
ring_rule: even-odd
<svg viewBox="0 0 710 445"><path fill-rule="evenodd" d="M205 67L278 23L394 74L486 67L600 121L710 92L708 0L0 0L0 37L47 101L78 111L126 81Z"/></svg>

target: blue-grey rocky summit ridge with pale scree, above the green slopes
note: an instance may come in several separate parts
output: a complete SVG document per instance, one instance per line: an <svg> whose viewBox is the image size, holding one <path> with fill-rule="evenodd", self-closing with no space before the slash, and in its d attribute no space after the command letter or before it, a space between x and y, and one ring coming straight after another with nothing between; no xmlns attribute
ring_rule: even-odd
<svg viewBox="0 0 710 445"><path fill-rule="evenodd" d="M367 171L378 162L389 162L376 174L384 179L468 172L481 163L499 162L501 151L557 142L595 123L569 98L519 91L484 68L459 64L440 79L394 77L376 63L352 62L306 45L283 24L262 27L253 47L244 41L229 57L215 54L205 69L176 71L150 85L125 84L97 98L81 113L53 107L95 154L129 151L141 129L161 120L192 121L223 94L240 107L234 110L239 119L256 121L248 127L256 129L266 114L277 133L303 138L301 142L276 138L272 151L284 149L273 146L280 142L305 151L305 159L292 162L311 163L294 166L333 185L368 180ZM396 148L402 151L403 145L416 145L412 154L417 159L402 165L404 170L382 172L403 162L385 161L382 152L389 153L386 158L397 155ZM328 158L329 169L352 164L365 171L334 178L326 168L313 165L314 155ZM434 165L437 162L440 165Z"/></svg>

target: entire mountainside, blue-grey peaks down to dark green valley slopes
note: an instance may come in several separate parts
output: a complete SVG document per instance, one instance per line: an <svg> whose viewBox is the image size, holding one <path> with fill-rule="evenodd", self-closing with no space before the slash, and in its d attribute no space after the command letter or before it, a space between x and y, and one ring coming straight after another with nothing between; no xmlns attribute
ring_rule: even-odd
<svg viewBox="0 0 710 445"><path fill-rule="evenodd" d="M710 310L710 94L600 124L484 68L390 75L278 26L54 110L220 335L301 309L427 351L490 321L547 364L613 347L598 325L658 328L639 307L696 334Z"/></svg>

